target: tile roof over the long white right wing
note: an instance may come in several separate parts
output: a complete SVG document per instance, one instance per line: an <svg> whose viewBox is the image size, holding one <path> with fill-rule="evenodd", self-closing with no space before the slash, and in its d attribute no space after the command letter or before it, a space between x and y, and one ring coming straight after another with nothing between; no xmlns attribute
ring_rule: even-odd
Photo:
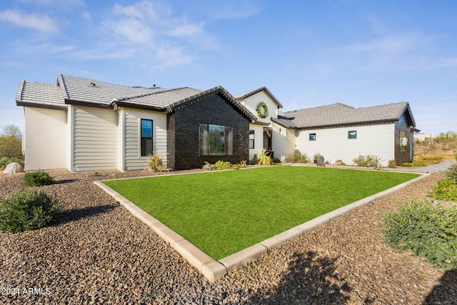
<svg viewBox="0 0 457 305"><path fill-rule="evenodd" d="M280 113L278 124L289 128L319 128L350 124L371 124L398 121L407 111L411 126L416 126L411 108L406 101L381 106L354 108L344 104L331 104Z"/></svg>

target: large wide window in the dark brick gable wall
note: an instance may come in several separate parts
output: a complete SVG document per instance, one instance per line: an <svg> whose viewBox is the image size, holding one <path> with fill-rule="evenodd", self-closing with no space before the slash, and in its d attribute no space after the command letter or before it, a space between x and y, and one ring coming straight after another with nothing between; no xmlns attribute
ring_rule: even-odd
<svg viewBox="0 0 457 305"><path fill-rule="evenodd" d="M233 154L233 127L200 124L200 156Z"/></svg>

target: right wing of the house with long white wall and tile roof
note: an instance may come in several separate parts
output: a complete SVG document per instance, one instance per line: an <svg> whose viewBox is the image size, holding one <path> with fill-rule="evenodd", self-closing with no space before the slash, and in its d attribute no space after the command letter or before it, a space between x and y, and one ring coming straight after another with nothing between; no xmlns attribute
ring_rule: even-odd
<svg viewBox="0 0 457 305"><path fill-rule="evenodd" d="M329 163L353 164L359 155L378 156L381 164L413 161L416 122L406 101L354 108L332 104L287 111L273 122L295 130L296 150Z"/></svg>

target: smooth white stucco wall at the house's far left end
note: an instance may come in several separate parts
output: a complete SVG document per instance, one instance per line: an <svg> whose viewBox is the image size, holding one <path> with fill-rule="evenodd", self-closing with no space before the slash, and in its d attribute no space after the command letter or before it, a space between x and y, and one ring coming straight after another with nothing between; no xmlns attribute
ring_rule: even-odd
<svg viewBox="0 0 457 305"><path fill-rule="evenodd" d="M24 107L25 170L66 169L65 110Z"/></svg>

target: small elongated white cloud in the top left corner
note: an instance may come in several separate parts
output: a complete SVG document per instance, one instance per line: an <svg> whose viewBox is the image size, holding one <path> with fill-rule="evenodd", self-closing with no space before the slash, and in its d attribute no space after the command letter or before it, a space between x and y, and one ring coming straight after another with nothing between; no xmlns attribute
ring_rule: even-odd
<svg viewBox="0 0 457 305"><path fill-rule="evenodd" d="M0 20L11 22L16 26L49 33L56 32L59 29L56 22L49 18L49 16L41 14L26 14L22 11L11 9L0 11Z"/></svg>

